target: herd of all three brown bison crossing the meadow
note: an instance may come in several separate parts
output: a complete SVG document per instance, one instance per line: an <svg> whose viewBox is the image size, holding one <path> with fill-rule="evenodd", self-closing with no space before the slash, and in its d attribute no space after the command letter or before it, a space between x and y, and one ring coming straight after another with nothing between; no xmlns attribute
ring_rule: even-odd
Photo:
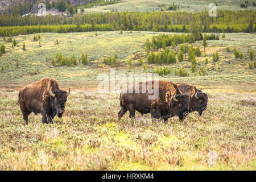
<svg viewBox="0 0 256 182"><path fill-rule="evenodd" d="M158 90L158 97L149 97L152 94L148 90L149 85ZM20 89L19 105L26 124L31 112L41 113L43 123L53 123L55 115L61 118L70 92L70 89L68 92L61 90L57 81L52 78L44 78ZM201 115L207 109L208 94L193 85L159 80L139 82L133 88L123 89L119 99L121 110L118 112L118 121L127 110L130 118L135 118L137 110L141 114L150 113L152 118L166 122L176 115L182 121L192 111L198 111Z"/></svg>

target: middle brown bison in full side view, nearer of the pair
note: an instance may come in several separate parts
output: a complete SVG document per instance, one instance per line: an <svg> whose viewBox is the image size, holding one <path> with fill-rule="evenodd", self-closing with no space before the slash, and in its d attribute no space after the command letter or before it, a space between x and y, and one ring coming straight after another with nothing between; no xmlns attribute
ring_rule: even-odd
<svg viewBox="0 0 256 182"><path fill-rule="evenodd" d="M146 86L144 86L146 85ZM150 93L148 88L152 85L152 89L159 90L158 97L149 99ZM146 92L142 92L144 90ZM129 90L133 92L129 93ZM135 92L137 90L137 93ZM184 119L188 114L189 95L183 94L177 88L176 84L170 81L140 82L133 88L123 89L120 93L121 110L118 112L118 121L127 110L130 112L130 118L135 117L135 110L141 114L150 113L152 118L164 119L177 115L180 120Z"/></svg>

